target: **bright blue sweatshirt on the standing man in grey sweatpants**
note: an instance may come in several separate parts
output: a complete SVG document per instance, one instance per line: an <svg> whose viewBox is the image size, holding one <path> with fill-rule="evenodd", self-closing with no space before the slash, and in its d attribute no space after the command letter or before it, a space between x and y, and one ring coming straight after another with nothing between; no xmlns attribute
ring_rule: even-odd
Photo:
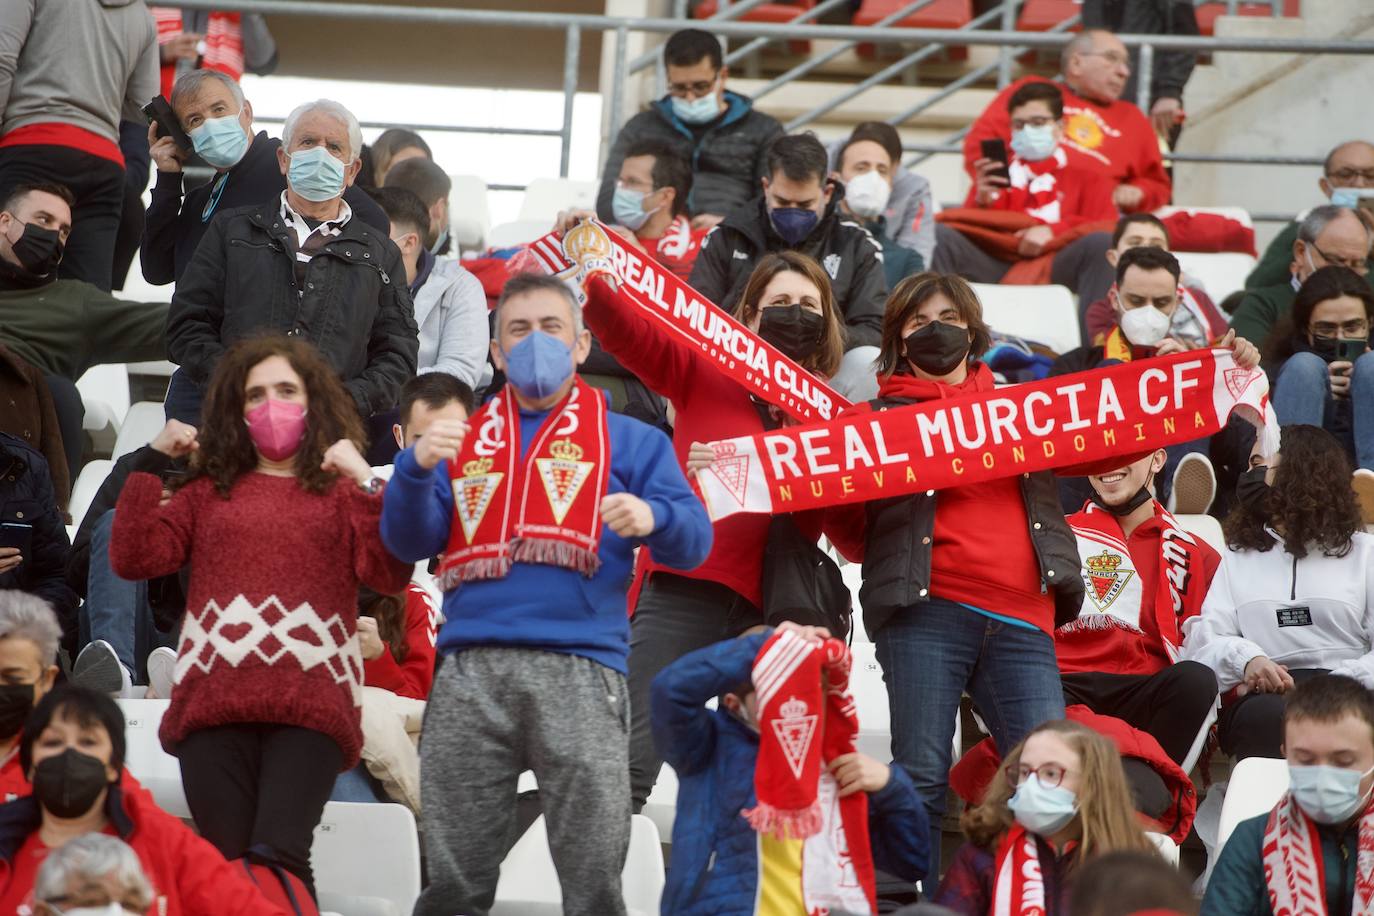
<svg viewBox="0 0 1374 916"><path fill-rule="evenodd" d="M547 416L521 411L522 450ZM687 485L668 437L620 413L607 412L606 424L607 493L632 493L649 503L654 533L643 542L657 562L680 570L699 566L710 552L710 519ZM452 520L448 464L426 471L414 449L397 455L382 505L386 549L407 563L442 553ZM584 655L624 674L629 651L625 591L639 544L602 526L600 569L591 578L561 566L515 563L504 578L451 589L444 595L447 622L438 634L440 651L474 645L540 648Z"/></svg>

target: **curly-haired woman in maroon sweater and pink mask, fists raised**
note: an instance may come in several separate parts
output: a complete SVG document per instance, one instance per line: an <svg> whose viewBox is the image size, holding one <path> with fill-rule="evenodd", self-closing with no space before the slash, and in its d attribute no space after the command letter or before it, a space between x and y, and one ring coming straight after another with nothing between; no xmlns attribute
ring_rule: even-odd
<svg viewBox="0 0 1374 916"><path fill-rule="evenodd" d="M306 886L315 825L363 743L359 584L394 593L411 575L382 547L381 481L361 439L353 400L312 346L238 343L210 379L198 437L177 446L191 456L185 483L164 500L157 477L131 474L110 542L124 578L191 564L161 737L201 834Z"/></svg>

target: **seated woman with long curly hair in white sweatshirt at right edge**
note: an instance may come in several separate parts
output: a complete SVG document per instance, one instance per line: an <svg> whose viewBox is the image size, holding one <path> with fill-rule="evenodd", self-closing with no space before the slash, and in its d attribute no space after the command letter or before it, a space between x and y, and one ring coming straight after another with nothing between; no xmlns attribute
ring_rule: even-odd
<svg viewBox="0 0 1374 916"><path fill-rule="evenodd" d="M1315 426L1285 426L1235 486L1227 549L1183 658L1216 672L1217 737L1235 758L1283 757L1283 695L1345 674L1374 689L1374 537L1351 489L1351 459Z"/></svg>

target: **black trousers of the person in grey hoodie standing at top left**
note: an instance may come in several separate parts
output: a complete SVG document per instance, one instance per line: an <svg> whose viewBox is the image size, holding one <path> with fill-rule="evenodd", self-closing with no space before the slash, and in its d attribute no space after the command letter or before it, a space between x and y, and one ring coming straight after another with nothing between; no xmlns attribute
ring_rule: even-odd
<svg viewBox="0 0 1374 916"><path fill-rule="evenodd" d="M124 169L117 162L59 146L0 148L0 201L21 184L62 184L77 199L58 276L106 293L114 276L114 239L124 213Z"/></svg>

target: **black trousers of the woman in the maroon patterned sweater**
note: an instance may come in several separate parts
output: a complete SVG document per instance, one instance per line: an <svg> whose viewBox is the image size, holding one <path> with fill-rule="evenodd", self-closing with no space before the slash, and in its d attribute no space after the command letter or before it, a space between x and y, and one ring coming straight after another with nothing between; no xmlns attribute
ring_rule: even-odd
<svg viewBox="0 0 1374 916"><path fill-rule="evenodd" d="M293 725L220 725L177 747L181 784L201 835L229 860L249 850L315 893L311 843L344 753L323 732Z"/></svg>

